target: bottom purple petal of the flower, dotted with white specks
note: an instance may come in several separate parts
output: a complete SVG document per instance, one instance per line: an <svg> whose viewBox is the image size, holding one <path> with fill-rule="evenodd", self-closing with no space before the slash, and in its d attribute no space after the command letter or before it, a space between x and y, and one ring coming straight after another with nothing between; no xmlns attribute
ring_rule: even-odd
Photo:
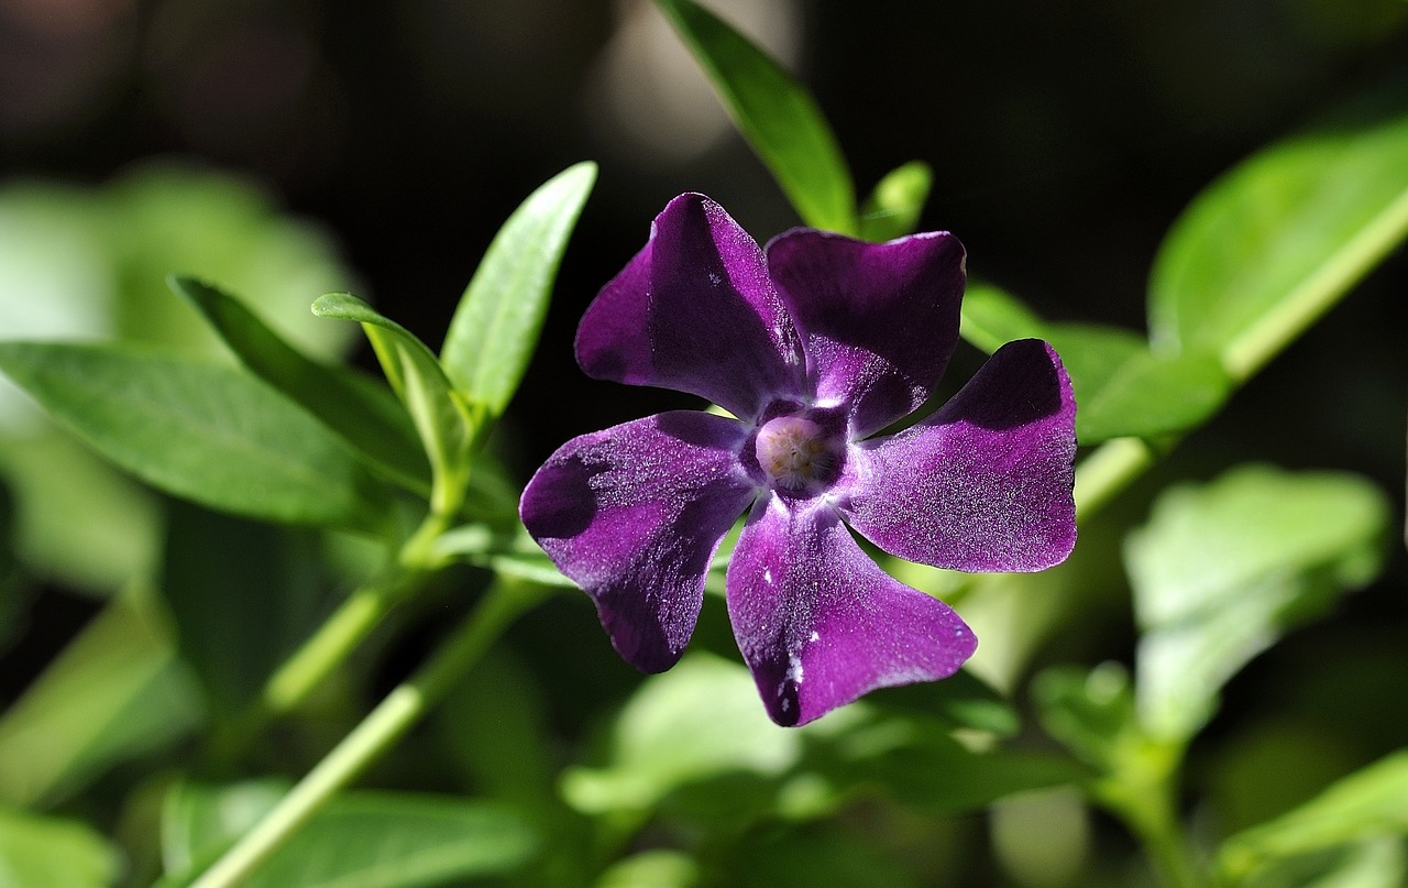
<svg viewBox="0 0 1408 888"><path fill-rule="evenodd" d="M728 613L784 726L876 688L946 678L977 647L948 605L890 578L819 499L755 506L728 568Z"/></svg>

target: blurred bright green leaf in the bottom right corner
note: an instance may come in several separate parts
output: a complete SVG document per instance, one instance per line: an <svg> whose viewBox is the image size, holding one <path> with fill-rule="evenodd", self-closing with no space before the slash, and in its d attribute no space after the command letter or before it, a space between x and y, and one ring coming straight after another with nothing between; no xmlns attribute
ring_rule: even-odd
<svg viewBox="0 0 1408 888"><path fill-rule="evenodd" d="M1356 771L1300 808L1226 840L1219 868L1245 878L1270 861L1408 834L1408 750Z"/></svg>

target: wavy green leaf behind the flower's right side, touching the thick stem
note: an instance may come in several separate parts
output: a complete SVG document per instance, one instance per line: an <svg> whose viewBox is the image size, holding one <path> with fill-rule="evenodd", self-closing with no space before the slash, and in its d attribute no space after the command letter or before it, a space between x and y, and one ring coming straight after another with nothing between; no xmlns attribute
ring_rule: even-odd
<svg viewBox="0 0 1408 888"><path fill-rule="evenodd" d="M962 334L990 352L1019 338L1050 343L1076 392L1076 437L1081 444L1193 428L1212 416L1231 390L1231 379L1211 355L1162 357L1128 330L1048 323L990 285L969 288Z"/></svg>

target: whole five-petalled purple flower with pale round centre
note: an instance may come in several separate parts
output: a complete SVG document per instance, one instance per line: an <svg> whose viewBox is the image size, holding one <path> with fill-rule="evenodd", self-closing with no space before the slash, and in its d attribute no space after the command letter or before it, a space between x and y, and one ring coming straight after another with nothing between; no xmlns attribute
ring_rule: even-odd
<svg viewBox="0 0 1408 888"><path fill-rule="evenodd" d="M1008 343L894 434L959 338L963 245L798 228L759 249L681 195L587 309L591 376L700 395L567 441L524 491L524 526L586 589L628 662L680 658L719 540L745 510L728 612L769 715L804 724L876 688L952 675L977 640L862 551L960 571L1039 571L1076 541L1076 403L1056 352Z"/></svg>

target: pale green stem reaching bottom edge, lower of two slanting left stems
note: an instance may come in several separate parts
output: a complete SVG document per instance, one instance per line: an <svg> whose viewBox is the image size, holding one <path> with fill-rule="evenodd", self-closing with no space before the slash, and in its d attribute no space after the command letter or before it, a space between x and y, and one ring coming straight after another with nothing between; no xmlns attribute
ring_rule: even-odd
<svg viewBox="0 0 1408 888"><path fill-rule="evenodd" d="M191 888L231 888L245 880L332 796L408 732L503 630L539 600L529 586L496 581L473 613L410 679L393 689L277 806Z"/></svg>

